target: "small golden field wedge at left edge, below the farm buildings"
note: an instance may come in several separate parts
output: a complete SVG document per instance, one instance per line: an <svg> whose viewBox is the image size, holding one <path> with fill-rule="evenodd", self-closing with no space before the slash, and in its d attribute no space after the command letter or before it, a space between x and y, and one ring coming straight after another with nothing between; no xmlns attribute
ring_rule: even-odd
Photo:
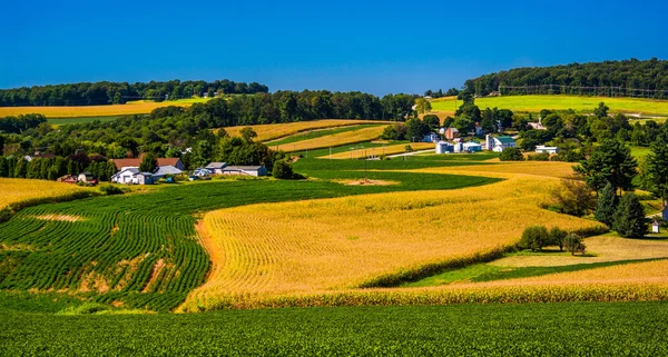
<svg viewBox="0 0 668 357"><path fill-rule="evenodd" d="M46 180L0 178L0 210L19 202L59 198L90 189Z"/></svg>

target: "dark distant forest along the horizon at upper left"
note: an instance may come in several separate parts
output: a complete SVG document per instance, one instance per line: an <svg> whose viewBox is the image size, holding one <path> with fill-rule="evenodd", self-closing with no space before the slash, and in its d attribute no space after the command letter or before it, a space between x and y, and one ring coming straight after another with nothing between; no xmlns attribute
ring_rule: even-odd
<svg viewBox="0 0 668 357"><path fill-rule="evenodd" d="M0 107L17 106L101 106L119 105L130 100L180 99L193 96L267 93L267 86L256 82L234 82L227 79L207 82L204 80L170 80L148 83L95 82L41 87L0 89Z"/></svg>

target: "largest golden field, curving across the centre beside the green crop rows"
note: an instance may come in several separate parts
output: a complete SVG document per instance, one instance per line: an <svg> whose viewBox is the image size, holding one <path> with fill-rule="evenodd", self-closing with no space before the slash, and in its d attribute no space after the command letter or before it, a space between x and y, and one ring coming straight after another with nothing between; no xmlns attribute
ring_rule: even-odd
<svg viewBox="0 0 668 357"><path fill-rule="evenodd" d="M552 178L483 187L253 205L206 214L213 269L184 310L237 299L336 292L379 276L499 250L536 222L595 221L540 209Z"/></svg>

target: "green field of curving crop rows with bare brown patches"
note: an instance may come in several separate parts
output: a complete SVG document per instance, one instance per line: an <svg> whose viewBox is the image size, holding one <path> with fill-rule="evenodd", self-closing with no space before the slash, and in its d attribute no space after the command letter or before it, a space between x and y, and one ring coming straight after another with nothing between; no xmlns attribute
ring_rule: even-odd
<svg viewBox="0 0 668 357"><path fill-rule="evenodd" d="M20 264L0 288L92 294L128 307L170 309L204 282L208 258L191 217L95 209L91 202L57 211L55 205L28 208L0 226L4 246L24 248L13 254Z"/></svg>

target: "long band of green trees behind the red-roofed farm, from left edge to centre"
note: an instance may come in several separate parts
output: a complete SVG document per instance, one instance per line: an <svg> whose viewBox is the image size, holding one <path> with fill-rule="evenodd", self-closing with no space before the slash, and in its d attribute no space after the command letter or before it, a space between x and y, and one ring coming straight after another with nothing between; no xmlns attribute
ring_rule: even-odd
<svg viewBox="0 0 668 357"><path fill-rule="evenodd" d="M216 98L188 108L158 108L148 116L106 122L53 128L41 119L33 120L19 130L0 133L0 138L6 155L39 150L62 157L76 152L108 158L137 157L141 152L174 157L196 146L215 128L336 118L404 120L415 116L413 100L409 95L377 98L361 92L278 91ZM4 121L14 119L0 119Z"/></svg>

